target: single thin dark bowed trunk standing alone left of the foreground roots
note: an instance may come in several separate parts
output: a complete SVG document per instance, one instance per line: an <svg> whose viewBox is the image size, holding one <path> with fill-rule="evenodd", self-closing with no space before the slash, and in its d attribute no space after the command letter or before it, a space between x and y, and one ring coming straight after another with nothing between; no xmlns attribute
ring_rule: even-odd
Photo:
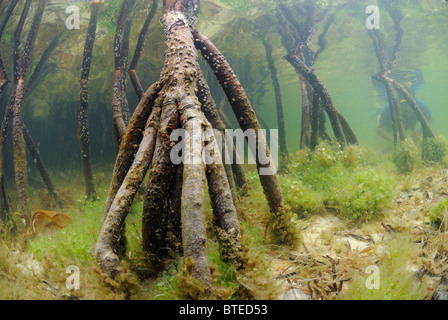
<svg viewBox="0 0 448 320"><path fill-rule="evenodd" d="M81 163L86 184L86 194L90 199L96 199L95 185L93 183L92 160L90 154L89 137L89 90L88 81L90 65L92 62L92 52L95 44L96 25L98 19L99 3L92 3L90 22L87 28L87 37L84 45L84 56L81 67L81 90L79 93L79 114L78 114L78 139L81 148Z"/></svg>

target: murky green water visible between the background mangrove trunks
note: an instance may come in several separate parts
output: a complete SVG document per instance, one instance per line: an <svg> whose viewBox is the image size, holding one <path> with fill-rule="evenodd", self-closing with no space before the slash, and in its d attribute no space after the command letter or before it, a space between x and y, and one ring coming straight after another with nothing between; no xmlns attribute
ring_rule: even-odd
<svg viewBox="0 0 448 320"><path fill-rule="evenodd" d="M113 157L109 134L113 81L112 42L114 15L118 11L119 3L120 1L106 1L105 8L100 13L90 77L92 153L97 162L109 161ZM325 5L325 3L319 4ZM3 10L6 4L7 2L3 3ZM287 143L289 150L294 151L297 150L300 139L300 82L294 69L282 59L286 50L276 32L276 20L268 20L268 25L256 22L263 14L273 15L274 4L248 4L249 2L246 1L226 4L204 1L201 11L202 20L199 20L198 28L212 37L231 61L242 83L246 84L246 91L253 100L253 107L262 115L270 128L277 128L275 97L264 48L259 40L260 35L266 36L271 42L282 90ZM375 133L378 112L387 101L377 95L370 79L379 69L374 48L364 24L367 17L364 11L368 4L370 3L349 4L336 12L335 20L326 37L327 48L320 55L314 68L317 76L330 92L335 107L353 126L360 142L380 150L389 150L391 143L382 140ZM69 15L64 12L64 9L68 5L81 8L79 30L64 30L64 19ZM133 54L133 46L137 40L139 24L144 20L148 7L146 6L146 10L135 15L130 38L130 56ZM419 69L423 72L425 84L417 93L417 98L423 100L433 111L432 126L435 133L447 135L448 129L444 120L448 112L445 108L448 93L444 90L448 81L446 77L448 57L445 54L447 43L444 40L448 31L447 6L443 1L428 1L424 4L416 1L401 1L399 7L405 16L402 20L404 36L396 69ZM43 157L48 162L53 162L54 157L49 156L49 153L55 145L66 149L65 146L76 143L73 132L76 127L76 108L79 100L78 78L89 10L84 1L53 1L48 4L47 10L33 55L34 63L38 61L46 42L56 31L64 31L66 39L49 59L38 88L32 92L29 99L25 100L24 117L29 123L30 130L34 132L36 140L40 142ZM17 22L19 13L20 11L16 10L12 16L1 44L3 60L9 74L11 71L9 41L12 39L14 23ZM156 18L159 16L160 13ZM380 17L380 29L385 35L386 46L391 48L395 36L392 21L384 10L380 12ZM148 87L157 79L163 61L164 40L160 24L153 21L151 28L153 31L148 35L138 70L144 87ZM313 50L317 49L317 38L322 28L323 22L318 23L317 32L310 44ZM214 79L210 81L213 82ZM222 96L218 86L214 90L217 97ZM3 104L7 101L6 97L7 94L4 93ZM136 99L130 84L128 99L131 109L134 108ZM64 132L68 133L65 137L63 137ZM56 162L70 161L73 166L77 166L76 147L64 150L63 154L65 156ZM58 163L53 162L52 165L61 168Z"/></svg>

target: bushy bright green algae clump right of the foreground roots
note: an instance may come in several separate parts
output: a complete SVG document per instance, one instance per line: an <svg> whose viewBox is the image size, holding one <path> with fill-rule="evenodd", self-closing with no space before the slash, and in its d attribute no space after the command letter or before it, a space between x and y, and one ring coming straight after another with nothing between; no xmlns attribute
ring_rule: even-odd
<svg viewBox="0 0 448 320"><path fill-rule="evenodd" d="M380 215L395 196L395 180L374 165L365 148L341 150L323 142L314 152L301 150L296 157L281 182L285 202L301 218L328 210L367 221Z"/></svg>

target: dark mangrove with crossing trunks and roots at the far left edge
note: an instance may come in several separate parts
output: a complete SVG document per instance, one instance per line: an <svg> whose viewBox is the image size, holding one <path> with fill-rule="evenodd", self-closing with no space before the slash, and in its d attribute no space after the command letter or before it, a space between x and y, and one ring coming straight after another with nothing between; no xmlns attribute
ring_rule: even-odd
<svg viewBox="0 0 448 320"><path fill-rule="evenodd" d="M0 25L0 38L3 34L3 30L6 26L7 20L9 19L12 11L14 10L17 1L10 2L5 18ZM13 37L13 72L14 72L14 86L12 88L12 92L9 98L9 101L5 108L5 113L2 121L2 127L0 129L0 181L2 189L0 191L0 196L2 197L2 210L8 209L6 201L6 192L4 189L4 158L3 151L5 148L5 142L7 139L7 131L8 126L12 120L12 140L13 140L13 148L14 148L14 172L15 172L15 180L16 187L19 199L19 210L21 211L21 215L25 218L25 221L28 221L27 217L30 213L29 207L29 193L28 193L28 167L26 162L26 147L28 147L32 158L39 170L39 173L48 189L48 192L51 196L53 196L57 200L57 195L51 181L50 175L40 157L39 150L35 145L28 129L23 122L21 115L21 108L23 104L23 100L26 96L33 90L35 87L35 83L40 75L43 65L48 60L51 53L56 48L59 43L61 33L57 35L44 50L39 62L34 67L34 71L32 75L28 78L28 73L30 70L30 61L33 52L34 43L36 41L36 37L39 31L39 27L42 21L42 16L45 10L45 1L40 1L38 3L36 13L31 22L30 30L28 32L27 39L23 45L23 50L20 51L21 48L21 35L23 31L23 26L25 24L25 20L28 16L29 8L31 5L31 1L27 0L22 9L22 13L19 19L19 22L14 31ZM6 74L5 74L6 77ZM1 80L1 79L0 79ZM58 204L61 206L61 203L57 200ZM6 215L2 213L2 217L5 218Z"/></svg>

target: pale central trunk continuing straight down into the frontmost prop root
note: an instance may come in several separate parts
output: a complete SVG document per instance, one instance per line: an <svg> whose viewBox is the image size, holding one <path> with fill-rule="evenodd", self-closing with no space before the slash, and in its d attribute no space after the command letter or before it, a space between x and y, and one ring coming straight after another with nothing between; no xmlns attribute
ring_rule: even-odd
<svg viewBox="0 0 448 320"><path fill-rule="evenodd" d="M162 25L166 42L166 64L162 78L170 79L166 96L178 101L178 110L182 128L186 135L182 184L182 246L185 263L191 266L191 275L205 286L206 292L211 286L211 273L207 253L206 222L204 212L205 167L202 162L202 130L205 117L199 107L196 96L197 70L196 50L190 25L196 20L199 3L188 3L182 0L164 3ZM180 11L182 8L186 16ZM182 64L178 68L178 59ZM193 159L190 161L189 157Z"/></svg>

